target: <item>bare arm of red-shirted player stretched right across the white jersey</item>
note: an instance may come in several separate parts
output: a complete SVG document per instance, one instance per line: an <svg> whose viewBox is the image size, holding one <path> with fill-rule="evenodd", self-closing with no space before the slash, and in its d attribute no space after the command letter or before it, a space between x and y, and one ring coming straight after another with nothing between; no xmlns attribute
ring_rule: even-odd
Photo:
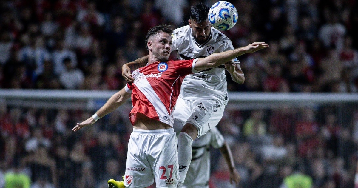
<svg viewBox="0 0 358 188"><path fill-rule="evenodd" d="M269 44L266 44L264 42L254 42L245 47L228 50L226 52L214 53L208 57L199 58L198 61L195 63L195 70L203 71L208 68L217 67L219 65L231 61L231 59L233 58L241 56L242 54L253 53L257 50L267 47L269 47Z"/></svg>

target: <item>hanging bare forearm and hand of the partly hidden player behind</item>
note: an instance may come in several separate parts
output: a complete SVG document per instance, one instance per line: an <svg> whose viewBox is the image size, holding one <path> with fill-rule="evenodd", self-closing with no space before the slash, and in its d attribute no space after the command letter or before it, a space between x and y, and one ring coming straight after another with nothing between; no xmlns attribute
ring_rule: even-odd
<svg viewBox="0 0 358 188"><path fill-rule="evenodd" d="M224 145L220 148L221 154L224 156L224 159L229 166L230 170L230 183L235 183L236 185L240 182L241 177L239 173L236 171L234 159L232 157L232 153L229 145L224 142Z"/></svg>

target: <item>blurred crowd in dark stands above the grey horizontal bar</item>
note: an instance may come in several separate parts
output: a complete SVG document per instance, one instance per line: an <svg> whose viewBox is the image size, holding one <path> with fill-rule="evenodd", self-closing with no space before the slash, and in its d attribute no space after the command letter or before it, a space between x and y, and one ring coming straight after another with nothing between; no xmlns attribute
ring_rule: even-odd
<svg viewBox="0 0 358 188"><path fill-rule="evenodd" d="M0 88L117 90L121 66L145 56L154 25L188 24L189 0L4 0ZM204 1L208 6L215 0ZM232 0L234 47L270 48L240 57L246 82L230 91L357 92L355 0Z"/></svg>

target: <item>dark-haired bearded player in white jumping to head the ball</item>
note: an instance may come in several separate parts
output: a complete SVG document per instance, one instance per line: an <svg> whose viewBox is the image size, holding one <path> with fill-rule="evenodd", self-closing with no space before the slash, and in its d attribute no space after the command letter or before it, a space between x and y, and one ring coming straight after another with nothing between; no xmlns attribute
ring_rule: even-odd
<svg viewBox="0 0 358 188"><path fill-rule="evenodd" d="M189 25L175 29L172 34L172 52L178 59L207 57L217 52L232 50L231 41L208 20L209 8L204 4L191 7ZM131 70L145 66L147 57L142 57L122 67L123 77L132 82ZM191 144L204 135L221 120L227 105L228 93L225 69L233 81L245 81L240 62L233 58L224 66L190 74L184 78L180 95L174 110L174 129L178 136L178 155L180 180L184 182L190 164ZM204 111L203 111L204 109Z"/></svg>

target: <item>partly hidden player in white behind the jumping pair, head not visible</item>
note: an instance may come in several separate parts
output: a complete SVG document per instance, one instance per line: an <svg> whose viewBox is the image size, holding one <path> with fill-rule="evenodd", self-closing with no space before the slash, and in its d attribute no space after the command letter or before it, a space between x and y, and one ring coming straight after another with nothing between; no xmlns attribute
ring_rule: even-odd
<svg viewBox="0 0 358 188"><path fill-rule="evenodd" d="M219 148L224 156L231 172L231 183L238 183L240 180L235 179L238 176L236 175L237 172L229 145L225 142L219 130L216 127L212 127L206 134L195 139L192 144L192 161L189 165L183 188L209 188L210 146Z"/></svg>

